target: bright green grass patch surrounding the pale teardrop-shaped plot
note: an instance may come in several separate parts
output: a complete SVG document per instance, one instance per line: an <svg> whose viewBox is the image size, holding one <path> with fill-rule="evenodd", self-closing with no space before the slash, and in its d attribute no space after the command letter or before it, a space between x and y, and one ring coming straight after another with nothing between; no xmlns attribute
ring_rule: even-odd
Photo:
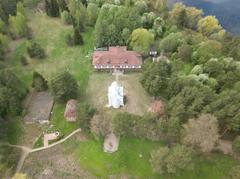
<svg viewBox="0 0 240 179"><path fill-rule="evenodd" d="M73 155L81 167L98 177L120 174L141 178L157 177L153 174L149 157L151 150L163 145L161 142L122 138L119 150L113 154L104 153L102 145L103 140L69 140L64 143L66 153Z"/></svg>

